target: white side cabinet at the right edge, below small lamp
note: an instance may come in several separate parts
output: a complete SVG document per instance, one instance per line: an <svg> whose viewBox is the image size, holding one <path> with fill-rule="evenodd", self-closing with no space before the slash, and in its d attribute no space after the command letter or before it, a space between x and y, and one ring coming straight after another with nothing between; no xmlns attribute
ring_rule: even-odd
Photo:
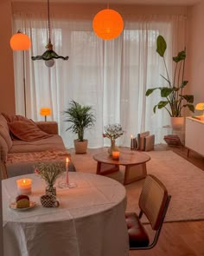
<svg viewBox="0 0 204 256"><path fill-rule="evenodd" d="M186 118L185 146L198 154L204 155L204 121ZM189 151L188 151L189 152Z"/></svg>

